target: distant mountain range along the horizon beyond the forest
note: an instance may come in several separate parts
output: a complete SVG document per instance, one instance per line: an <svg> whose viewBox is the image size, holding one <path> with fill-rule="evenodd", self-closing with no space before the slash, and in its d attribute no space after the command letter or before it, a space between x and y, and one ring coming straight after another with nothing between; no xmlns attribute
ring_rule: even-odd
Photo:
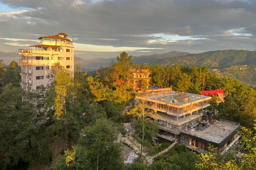
<svg viewBox="0 0 256 170"><path fill-rule="evenodd" d="M1 52L0 59L8 65L12 60L19 61L20 55L17 52ZM84 60L80 57L74 57L75 65L80 64L85 71L93 71L106 67L111 60L117 62L116 57L112 58L94 58ZM217 50L207 51L198 54L188 52L171 51L163 54L133 56L132 62L135 64L148 63L150 65L196 65L197 67L206 65L212 72L219 76L228 76L238 79L247 85L256 86L256 51L247 50Z"/></svg>

